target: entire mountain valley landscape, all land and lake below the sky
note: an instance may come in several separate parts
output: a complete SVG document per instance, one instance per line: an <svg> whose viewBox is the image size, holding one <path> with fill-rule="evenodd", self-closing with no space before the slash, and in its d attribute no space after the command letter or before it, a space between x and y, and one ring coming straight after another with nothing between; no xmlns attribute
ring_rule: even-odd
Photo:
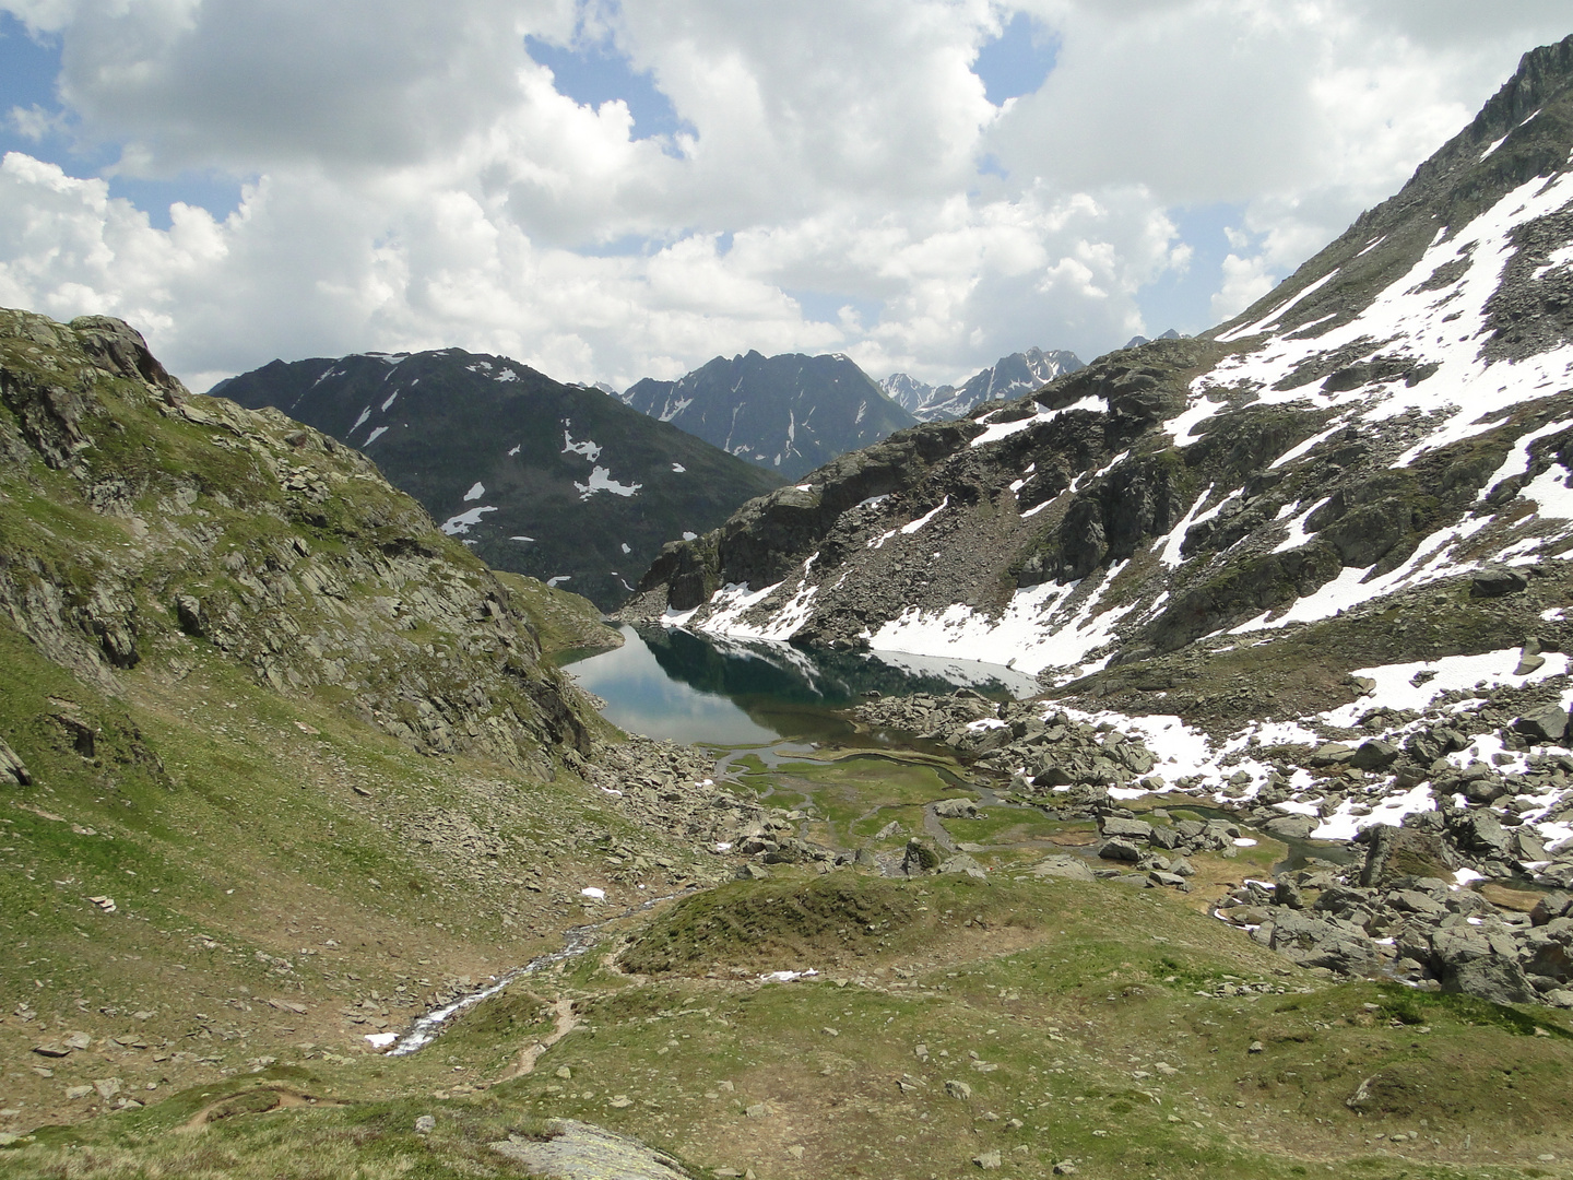
<svg viewBox="0 0 1573 1180"><path fill-rule="evenodd" d="M0 1177L1573 1175L1573 38L887 389L0 312Z"/></svg>

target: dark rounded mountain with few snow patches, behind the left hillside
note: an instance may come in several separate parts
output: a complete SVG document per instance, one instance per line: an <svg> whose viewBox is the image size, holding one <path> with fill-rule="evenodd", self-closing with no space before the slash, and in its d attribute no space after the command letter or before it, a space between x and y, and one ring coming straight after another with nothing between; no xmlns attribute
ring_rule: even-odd
<svg viewBox="0 0 1573 1180"><path fill-rule="evenodd" d="M664 543L779 485L598 389L462 349L275 360L212 392L359 447L489 565L601 609Z"/></svg>

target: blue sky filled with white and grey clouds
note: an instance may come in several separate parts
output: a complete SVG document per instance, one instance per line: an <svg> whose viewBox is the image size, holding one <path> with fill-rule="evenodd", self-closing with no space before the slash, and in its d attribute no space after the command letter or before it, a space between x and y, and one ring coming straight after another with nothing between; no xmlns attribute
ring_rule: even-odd
<svg viewBox="0 0 1573 1180"><path fill-rule="evenodd" d="M1247 307L1565 0L0 0L0 305L193 390L459 346L958 382Z"/></svg>

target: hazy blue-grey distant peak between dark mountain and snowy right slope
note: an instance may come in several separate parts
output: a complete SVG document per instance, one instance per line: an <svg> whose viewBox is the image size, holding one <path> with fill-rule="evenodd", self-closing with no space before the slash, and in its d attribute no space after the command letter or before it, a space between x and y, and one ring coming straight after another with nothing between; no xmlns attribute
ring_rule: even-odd
<svg viewBox="0 0 1573 1180"><path fill-rule="evenodd" d="M788 480L915 422L842 354L716 357L676 381L645 378L623 401Z"/></svg>

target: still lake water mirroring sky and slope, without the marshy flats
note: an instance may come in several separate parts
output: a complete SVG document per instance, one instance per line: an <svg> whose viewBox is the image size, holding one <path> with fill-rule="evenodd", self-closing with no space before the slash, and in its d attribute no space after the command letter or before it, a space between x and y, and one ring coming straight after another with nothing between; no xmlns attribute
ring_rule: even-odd
<svg viewBox="0 0 1573 1180"><path fill-rule="evenodd" d="M994 699L1027 695L1032 678L1010 669L897 653L805 653L785 643L739 642L676 628L621 628L617 651L568 664L607 702L624 730L724 746L775 738L834 739L849 733L831 710L868 692L952 692L966 684Z"/></svg>

